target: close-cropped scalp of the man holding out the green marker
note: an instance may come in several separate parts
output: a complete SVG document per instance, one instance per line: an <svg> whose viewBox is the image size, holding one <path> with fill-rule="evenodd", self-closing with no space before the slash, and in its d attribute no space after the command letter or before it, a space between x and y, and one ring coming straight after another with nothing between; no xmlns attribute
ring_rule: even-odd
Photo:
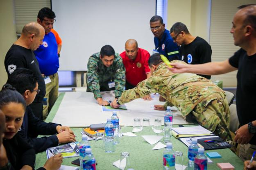
<svg viewBox="0 0 256 170"><path fill-rule="evenodd" d="M256 4L247 4L238 7L237 13L244 15L243 26L250 25L256 30Z"/></svg>

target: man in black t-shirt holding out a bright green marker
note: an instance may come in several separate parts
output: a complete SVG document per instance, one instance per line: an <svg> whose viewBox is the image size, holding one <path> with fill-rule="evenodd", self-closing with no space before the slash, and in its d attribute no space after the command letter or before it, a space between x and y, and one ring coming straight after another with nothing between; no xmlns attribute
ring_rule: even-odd
<svg viewBox="0 0 256 170"><path fill-rule="evenodd" d="M256 4L242 5L233 18L230 33L234 44L241 49L223 62L206 64L171 63L174 73L198 73L217 75L238 70L236 108L240 128L236 130L235 142L240 145L239 157L251 159L256 150ZM232 124L232 122L230 122Z"/></svg>

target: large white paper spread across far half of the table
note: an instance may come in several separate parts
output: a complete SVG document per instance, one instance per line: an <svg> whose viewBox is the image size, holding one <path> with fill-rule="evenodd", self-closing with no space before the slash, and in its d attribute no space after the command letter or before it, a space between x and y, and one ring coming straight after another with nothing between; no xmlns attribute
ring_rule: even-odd
<svg viewBox="0 0 256 170"><path fill-rule="evenodd" d="M104 100L115 99L113 91L102 92ZM118 112L121 126L133 126L134 118L140 118L142 125L143 118L150 119L150 125L154 125L154 119L161 119L164 124L164 111L154 110L151 106L154 104L163 105L165 102L159 102L159 94L151 94L153 100L144 101L143 99L135 99L126 103L128 110ZM173 111L173 124L188 124L181 116L179 111ZM63 100L52 120L54 123L62 124L70 127L84 127L91 124L105 123L110 118L112 112L102 112L101 106L93 97L91 92L69 92L65 93ZM75 119L75 121L74 121Z"/></svg>

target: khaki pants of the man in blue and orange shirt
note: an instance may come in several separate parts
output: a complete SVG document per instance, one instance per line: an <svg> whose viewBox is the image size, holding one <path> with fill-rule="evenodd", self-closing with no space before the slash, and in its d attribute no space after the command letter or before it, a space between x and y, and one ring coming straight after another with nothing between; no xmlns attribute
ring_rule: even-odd
<svg viewBox="0 0 256 170"><path fill-rule="evenodd" d="M50 113L52 106L59 95L59 75L55 73L54 75L49 75L51 82L45 84L46 94L45 98L47 99L47 105L43 105L43 120L46 119L48 114Z"/></svg>

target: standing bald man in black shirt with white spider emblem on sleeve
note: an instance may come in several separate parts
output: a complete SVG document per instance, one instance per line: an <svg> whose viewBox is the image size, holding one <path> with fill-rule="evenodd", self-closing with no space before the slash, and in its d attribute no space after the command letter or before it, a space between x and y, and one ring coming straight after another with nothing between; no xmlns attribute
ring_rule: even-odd
<svg viewBox="0 0 256 170"><path fill-rule="evenodd" d="M40 93L36 95L34 102L30 104L34 115L39 119L43 119L42 101L45 96L45 82L33 51L43 43L44 35L44 28L40 24L36 22L26 24L22 29L20 38L14 42L5 56L5 70L8 77L19 67L28 68L39 77Z"/></svg>

